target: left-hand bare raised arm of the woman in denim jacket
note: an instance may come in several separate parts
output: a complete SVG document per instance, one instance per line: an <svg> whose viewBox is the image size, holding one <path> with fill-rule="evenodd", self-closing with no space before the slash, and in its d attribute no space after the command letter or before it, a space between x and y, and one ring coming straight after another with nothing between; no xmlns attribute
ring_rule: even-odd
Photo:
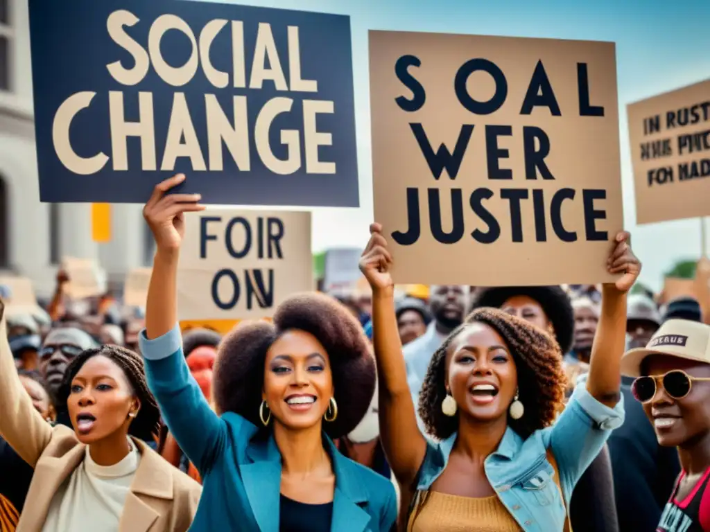
<svg viewBox="0 0 710 532"><path fill-rule="evenodd" d="M417 426L407 368L395 316L392 256L382 226L370 226L371 238L360 270L372 287L372 331L380 394L380 439L398 482L408 487L424 461L427 442Z"/></svg>

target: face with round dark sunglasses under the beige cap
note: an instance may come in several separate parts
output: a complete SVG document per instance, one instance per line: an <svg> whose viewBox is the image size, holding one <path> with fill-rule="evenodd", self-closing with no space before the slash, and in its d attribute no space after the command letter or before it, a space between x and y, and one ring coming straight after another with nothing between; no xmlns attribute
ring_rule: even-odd
<svg viewBox="0 0 710 532"><path fill-rule="evenodd" d="M683 370L691 377L710 377L710 365L692 360L651 355L644 361L645 375L665 375L670 370ZM683 399L673 399L656 382L655 397L643 405L658 443L678 447L710 431L710 382L694 381Z"/></svg>

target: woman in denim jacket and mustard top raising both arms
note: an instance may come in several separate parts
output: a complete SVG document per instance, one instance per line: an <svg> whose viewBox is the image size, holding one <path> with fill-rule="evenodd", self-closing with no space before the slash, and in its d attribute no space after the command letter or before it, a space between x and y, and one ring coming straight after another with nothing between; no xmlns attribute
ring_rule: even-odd
<svg viewBox="0 0 710 532"><path fill-rule="evenodd" d="M433 355L417 427L393 305L392 257L378 223L360 267L373 289L380 426L413 532L562 532L577 480L623 423L626 292L640 264L619 233L589 377L564 407L562 353L545 331L477 309ZM407 497L408 501L405 499Z"/></svg>

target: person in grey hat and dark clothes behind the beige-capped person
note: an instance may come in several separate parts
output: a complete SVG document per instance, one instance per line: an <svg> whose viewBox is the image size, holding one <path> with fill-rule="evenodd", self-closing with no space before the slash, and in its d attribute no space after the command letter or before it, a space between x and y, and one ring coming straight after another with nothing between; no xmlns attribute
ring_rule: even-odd
<svg viewBox="0 0 710 532"><path fill-rule="evenodd" d="M628 348L645 347L661 323L654 301L645 294L628 297ZM631 393L633 377L621 377L626 405L623 426L608 439L619 529L654 530L680 472L678 455L658 444L652 426Z"/></svg>

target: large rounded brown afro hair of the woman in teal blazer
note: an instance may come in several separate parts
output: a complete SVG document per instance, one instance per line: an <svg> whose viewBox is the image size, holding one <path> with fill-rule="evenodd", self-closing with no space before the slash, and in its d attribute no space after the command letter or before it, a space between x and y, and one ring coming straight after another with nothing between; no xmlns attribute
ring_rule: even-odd
<svg viewBox="0 0 710 532"><path fill-rule="evenodd" d="M338 416L323 423L331 438L352 431L366 414L375 392L375 360L360 323L336 299L297 294L278 306L273 322L246 321L227 334L214 363L212 395L219 412L234 412L261 426L259 406L266 353L289 330L312 334L330 361Z"/></svg>

